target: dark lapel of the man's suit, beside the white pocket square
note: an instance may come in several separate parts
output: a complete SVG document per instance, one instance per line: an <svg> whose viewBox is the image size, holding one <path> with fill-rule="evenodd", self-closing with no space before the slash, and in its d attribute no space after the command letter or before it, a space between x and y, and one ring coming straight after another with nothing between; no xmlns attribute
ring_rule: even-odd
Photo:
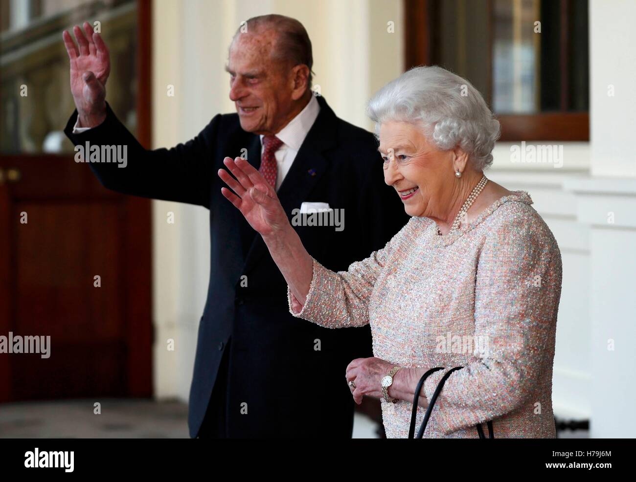
<svg viewBox="0 0 636 482"><path fill-rule="evenodd" d="M328 169L329 160L323 153L336 144L336 114L322 97L318 97L317 100L321 106L320 113L277 192L289 219L293 216L292 211L300 209L301 203L307 200L312 189ZM257 139L259 139L258 136ZM255 167L258 169L258 166ZM249 272L266 252L267 247L263 238L259 235L255 236L247 253L243 272Z"/></svg>

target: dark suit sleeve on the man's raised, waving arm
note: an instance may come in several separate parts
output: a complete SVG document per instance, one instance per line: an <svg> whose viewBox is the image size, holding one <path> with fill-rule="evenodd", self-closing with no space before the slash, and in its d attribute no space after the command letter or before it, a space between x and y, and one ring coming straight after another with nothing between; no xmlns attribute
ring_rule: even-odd
<svg viewBox="0 0 636 482"><path fill-rule="evenodd" d="M106 102L106 119L99 126L73 134L78 116L71 115L64 133L75 146L120 148L125 162L86 162L102 186L123 194L186 202L209 208L212 179L212 144L218 135L217 115L196 137L170 149L145 149L115 116ZM116 150L111 149L111 152ZM76 147L76 162L79 161ZM214 174L216 176L216 174Z"/></svg>

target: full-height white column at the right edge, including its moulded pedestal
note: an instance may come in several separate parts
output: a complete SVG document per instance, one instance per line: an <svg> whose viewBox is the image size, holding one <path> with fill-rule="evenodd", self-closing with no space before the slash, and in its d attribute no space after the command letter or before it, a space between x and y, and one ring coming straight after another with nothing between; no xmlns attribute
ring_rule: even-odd
<svg viewBox="0 0 636 482"><path fill-rule="evenodd" d="M591 437L636 431L636 3L590 1L591 176L565 181L590 229ZM633 57L633 56L631 56Z"/></svg>

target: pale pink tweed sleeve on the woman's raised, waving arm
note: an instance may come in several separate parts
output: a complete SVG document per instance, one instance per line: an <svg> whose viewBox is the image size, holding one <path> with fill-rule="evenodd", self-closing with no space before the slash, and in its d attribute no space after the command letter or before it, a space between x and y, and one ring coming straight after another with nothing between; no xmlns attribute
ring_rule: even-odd
<svg viewBox="0 0 636 482"><path fill-rule="evenodd" d="M404 229L406 226L404 226ZM399 231L384 248L363 261L356 261L347 271L333 272L313 259L314 272L305 305L301 305L287 286L289 312L327 328L369 324L369 300L375 282L392 256L403 233Z"/></svg>

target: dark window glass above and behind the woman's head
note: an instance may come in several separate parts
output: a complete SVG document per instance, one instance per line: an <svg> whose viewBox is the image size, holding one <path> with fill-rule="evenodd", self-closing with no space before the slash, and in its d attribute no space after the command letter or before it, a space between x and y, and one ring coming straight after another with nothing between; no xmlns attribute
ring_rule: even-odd
<svg viewBox="0 0 636 482"><path fill-rule="evenodd" d="M587 0L434 0L432 63L498 114L589 108Z"/></svg>

